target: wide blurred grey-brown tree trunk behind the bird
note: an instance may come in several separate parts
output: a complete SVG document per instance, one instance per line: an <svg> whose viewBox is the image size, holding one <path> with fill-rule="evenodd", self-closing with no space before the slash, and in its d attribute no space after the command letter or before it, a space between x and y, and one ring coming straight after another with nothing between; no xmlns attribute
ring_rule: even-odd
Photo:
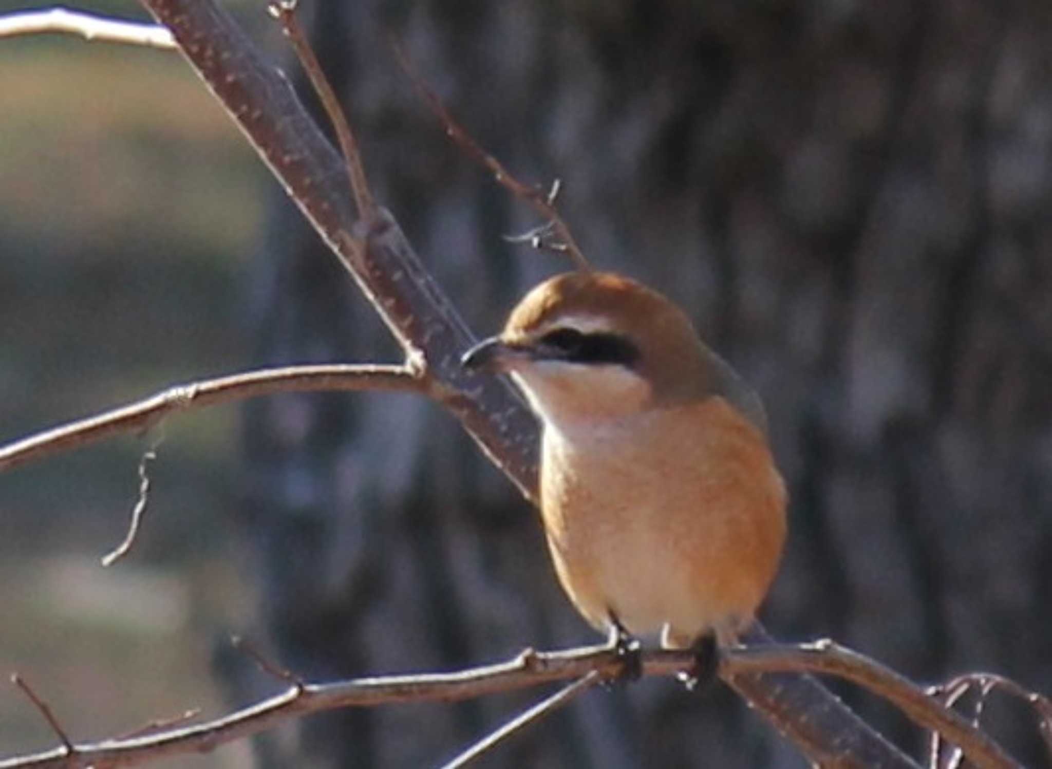
<svg viewBox="0 0 1052 769"><path fill-rule="evenodd" d="M757 387L792 491L775 635L831 635L926 682L990 669L1052 690L1047 0L304 12L377 197L480 335L568 265L501 240L538 222L448 144L387 29L509 168L563 180L596 266L681 302ZM259 362L399 360L299 214L276 199L270 222ZM599 640L534 512L433 405L289 396L245 424L244 532L283 665L445 670ZM244 668L238 702L272 689ZM321 715L261 740L260 766L434 765L535 696ZM1031 722L993 710L1039 764ZM722 687L646 681L588 693L487 765L803 762Z"/></svg>

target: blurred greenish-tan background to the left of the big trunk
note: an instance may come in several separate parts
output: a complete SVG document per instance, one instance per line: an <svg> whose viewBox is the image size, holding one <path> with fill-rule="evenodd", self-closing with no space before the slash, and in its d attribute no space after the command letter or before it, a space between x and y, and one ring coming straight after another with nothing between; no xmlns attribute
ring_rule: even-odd
<svg viewBox="0 0 1052 769"><path fill-rule="evenodd" d="M227 5L266 39L259 3ZM243 367L238 284L272 182L182 58L3 39L0 116L0 441ZM142 535L109 569L99 558L124 535L156 434L0 474L0 670L75 738L217 712L210 645L242 603L236 431L236 407L167 421ZM0 686L0 755L54 744ZM238 766L245 750L162 765Z"/></svg>

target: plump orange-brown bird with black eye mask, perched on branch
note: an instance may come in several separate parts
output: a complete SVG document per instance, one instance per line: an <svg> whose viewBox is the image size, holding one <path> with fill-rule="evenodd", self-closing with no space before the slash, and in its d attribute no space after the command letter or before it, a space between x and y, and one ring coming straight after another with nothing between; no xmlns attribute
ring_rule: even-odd
<svg viewBox="0 0 1052 769"><path fill-rule="evenodd" d="M533 287L461 362L510 375L540 421L541 518L581 615L620 648L737 643L777 571L787 492L760 398L688 316L578 269Z"/></svg>

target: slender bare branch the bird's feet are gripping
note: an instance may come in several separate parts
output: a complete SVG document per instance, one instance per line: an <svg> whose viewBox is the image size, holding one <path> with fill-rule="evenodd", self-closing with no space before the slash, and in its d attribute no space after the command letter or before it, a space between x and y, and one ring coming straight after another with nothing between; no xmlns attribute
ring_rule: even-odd
<svg viewBox="0 0 1052 769"><path fill-rule="evenodd" d="M645 675L674 676L690 669L694 664L694 656L690 651L648 650L642 653L641 664ZM581 680L591 674L612 677L622 670L624 660L616 650L603 644L554 652L527 649L504 663L452 673L388 675L329 684L297 682L281 694L215 721L134 740L108 740L69 745L68 748L62 746L36 755L0 761L0 769L132 766L167 755L211 750L305 713L401 702L453 702L539 684ZM937 729L946 738L959 745L975 767L1019 767L988 735L957 713L945 708L942 702L897 673L835 644L818 642L800 646L761 645L722 650L720 676L734 688L737 688L743 677L760 673L769 675L778 671L836 675L861 684L903 709L914 723ZM841 741L847 737L848 743L851 742L850 735L836 734L834 737ZM848 749L842 749L841 753L827 751L823 761L823 766L834 767L875 765L917 767L917 764L908 758L898 761L896 757L889 760L888 756L884 756L882 763L874 764L865 755L859 757Z"/></svg>

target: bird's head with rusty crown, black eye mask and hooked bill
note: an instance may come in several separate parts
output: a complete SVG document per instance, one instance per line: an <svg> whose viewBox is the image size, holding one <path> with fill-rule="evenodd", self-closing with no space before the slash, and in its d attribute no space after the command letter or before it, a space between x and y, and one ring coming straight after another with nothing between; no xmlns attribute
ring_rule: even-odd
<svg viewBox="0 0 1052 769"><path fill-rule="evenodd" d="M728 376L736 381L683 310L610 272L541 283L500 336L472 347L463 363L510 372L546 423L567 426L705 398Z"/></svg>

